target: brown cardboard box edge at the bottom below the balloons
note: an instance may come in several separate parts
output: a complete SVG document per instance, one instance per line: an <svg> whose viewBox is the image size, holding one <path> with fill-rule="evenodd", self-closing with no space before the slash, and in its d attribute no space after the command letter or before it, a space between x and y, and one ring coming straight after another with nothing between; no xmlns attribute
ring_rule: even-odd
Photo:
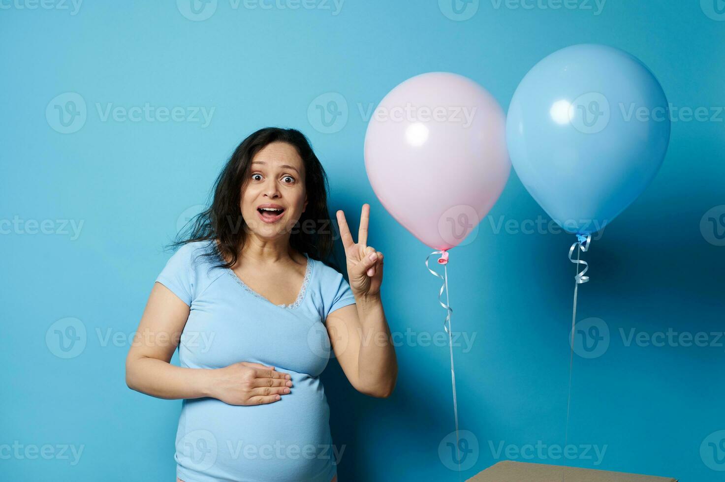
<svg viewBox="0 0 725 482"><path fill-rule="evenodd" d="M467 482L677 482L674 478L503 460Z"/></svg>

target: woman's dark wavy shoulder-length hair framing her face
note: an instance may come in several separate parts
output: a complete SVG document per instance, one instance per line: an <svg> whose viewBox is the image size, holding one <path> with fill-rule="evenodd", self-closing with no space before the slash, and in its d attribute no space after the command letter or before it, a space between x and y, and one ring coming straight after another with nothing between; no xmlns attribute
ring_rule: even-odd
<svg viewBox="0 0 725 482"><path fill-rule="evenodd" d="M214 184L210 207L189 220L169 247L178 248L193 241L218 240L218 243L212 243L213 249L204 256L214 257L218 267L232 267L236 263L247 237L247 224L240 209L241 193L249 182L252 159L273 142L294 146L305 165L307 207L291 228L291 247L307 253L312 259L336 266L336 262L329 260L333 247L333 225L327 207L327 175L312 151L310 141L296 129L263 128L241 141Z"/></svg>

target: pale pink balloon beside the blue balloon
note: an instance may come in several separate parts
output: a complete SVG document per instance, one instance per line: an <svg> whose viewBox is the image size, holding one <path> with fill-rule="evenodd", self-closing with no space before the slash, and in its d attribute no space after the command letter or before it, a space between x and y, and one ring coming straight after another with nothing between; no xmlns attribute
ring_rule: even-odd
<svg viewBox="0 0 725 482"><path fill-rule="evenodd" d="M365 170L398 223L434 249L460 244L499 198L511 162L505 115L479 84L450 72L405 80L365 133Z"/></svg>

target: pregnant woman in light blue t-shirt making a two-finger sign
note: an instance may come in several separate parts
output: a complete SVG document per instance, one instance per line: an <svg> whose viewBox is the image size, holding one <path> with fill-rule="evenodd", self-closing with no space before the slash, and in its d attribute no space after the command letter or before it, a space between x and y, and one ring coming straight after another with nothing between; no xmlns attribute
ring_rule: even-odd
<svg viewBox="0 0 725 482"><path fill-rule="evenodd" d="M320 373L337 357L352 386L389 396L397 379L380 287L383 254L337 212L349 283L332 249L327 178L307 138L265 128L242 141L210 209L154 283L126 360L130 388L183 399L184 482L337 480ZM178 347L181 366L170 364Z"/></svg>

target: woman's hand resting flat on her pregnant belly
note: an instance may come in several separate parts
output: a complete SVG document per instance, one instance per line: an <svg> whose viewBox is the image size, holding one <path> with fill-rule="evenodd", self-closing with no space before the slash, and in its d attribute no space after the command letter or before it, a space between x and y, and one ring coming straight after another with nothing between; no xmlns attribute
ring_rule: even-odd
<svg viewBox="0 0 725 482"><path fill-rule="evenodd" d="M211 396L230 405L260 405L289 394L290 375L252 362L212 370Z"/></svg>

